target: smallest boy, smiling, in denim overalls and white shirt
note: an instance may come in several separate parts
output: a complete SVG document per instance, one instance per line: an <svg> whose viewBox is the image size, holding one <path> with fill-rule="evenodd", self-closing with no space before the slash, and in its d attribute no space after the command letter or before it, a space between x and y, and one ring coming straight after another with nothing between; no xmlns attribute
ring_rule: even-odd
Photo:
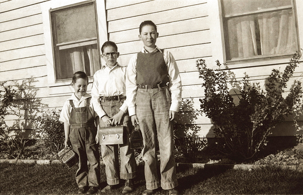
<svg viewBox="0 0 303 195"><path fill-rule="evenodd" d="M94 194L100 184L99 136L95 126L95 122L99 126L99 117L94 112L92 96L86 93L88 77L85 72L75 72L71 85L75 93L65 101L59 120L64 122L65 146L72 145L79 156L77 193Z"/></svg>

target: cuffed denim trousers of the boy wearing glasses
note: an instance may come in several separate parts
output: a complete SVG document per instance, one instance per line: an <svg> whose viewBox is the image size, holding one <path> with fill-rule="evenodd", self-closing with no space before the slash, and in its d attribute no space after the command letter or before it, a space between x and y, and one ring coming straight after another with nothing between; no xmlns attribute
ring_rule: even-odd
<svg viewBox="0 0 303 195"><path fill-rule="evenodd" d="M105 113L109 117L113 117L119 112L119 108L122 106L123 101L102 101L101 105ZM132 128L131 121L129 120L128 113L125 113L123 118L123 126L127 126L128 129ZM105 123L100 120L100 126L105 127ZM126 134L126 135L125 135ZM107 183L110 185L119 184L119 178L121 179L133 179L136 172L136 160L134 150L131 149L129 143L129 133L125 133L124 143L119 144L121 165L119 170L119 158L118 158L118 144L116 145L101 145L102 160L105 164L105 173ZM119 177L120 176L120 177Z"/></svg>

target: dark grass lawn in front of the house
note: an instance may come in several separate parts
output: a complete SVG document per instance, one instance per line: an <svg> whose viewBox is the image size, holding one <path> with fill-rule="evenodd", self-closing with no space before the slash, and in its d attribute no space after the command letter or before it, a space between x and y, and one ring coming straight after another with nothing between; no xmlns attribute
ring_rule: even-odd
<svg viewBox="0 0 303 195"><path fill-rule="evenodd" d="M0 163L0 194L74 194L76 167L62 164ZM144 167L138 166L136 189L145 190ZM247 170L177 167L178 190L183 194L302 194L303 172L276 167ZM121 182L124 183L124 180ZM101 187L106 186L101 165ZM112 194L120 194L123 184ZM161 189L161 188L160 188ZM100 192L100 191L99 191ZM158 190L156 194L168 194Z"/></svg>

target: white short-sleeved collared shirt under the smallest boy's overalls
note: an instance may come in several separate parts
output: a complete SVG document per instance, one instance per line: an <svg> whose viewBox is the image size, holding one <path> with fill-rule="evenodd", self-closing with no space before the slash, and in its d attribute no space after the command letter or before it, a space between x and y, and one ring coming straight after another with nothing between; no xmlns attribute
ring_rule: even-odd
<svg viewBox="0 0 303 195"><path fill-rule="evenodd" d="M70 98L68 98L62 108L62 111L60 113L59 120L62 121L63 123L68 123L69 124L69 116L71 115L72 111L72 105L69 103L69 100L72 100L75 108L78 107L85 107L86 106L86 99L92 97L90 94L85 93L80 100L75 96L75 93L72 94ZM92 104L92 100L90 101L88 110L91 112L92 116L94 116L94 119L98 116L98 114L94 111L94 107Z"/></svg>

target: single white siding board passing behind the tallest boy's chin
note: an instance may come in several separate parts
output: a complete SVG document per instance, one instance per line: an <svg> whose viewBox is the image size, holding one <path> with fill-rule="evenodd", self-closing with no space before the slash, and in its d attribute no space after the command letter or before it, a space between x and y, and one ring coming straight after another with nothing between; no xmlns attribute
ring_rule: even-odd
<svg viewBox="0 0 303 195"><path fill-rule="evenodd" d="M195 39L189 39L188 37L195 37ZM157 38L157 46L159 48L174 48L189 45L198 45L203 43L209 43L209 31L201 30L190 33L176 34L165 37ZM127 43L117 44L120 54L136 53L143 47L141 40L132 41Z"/></svg>

